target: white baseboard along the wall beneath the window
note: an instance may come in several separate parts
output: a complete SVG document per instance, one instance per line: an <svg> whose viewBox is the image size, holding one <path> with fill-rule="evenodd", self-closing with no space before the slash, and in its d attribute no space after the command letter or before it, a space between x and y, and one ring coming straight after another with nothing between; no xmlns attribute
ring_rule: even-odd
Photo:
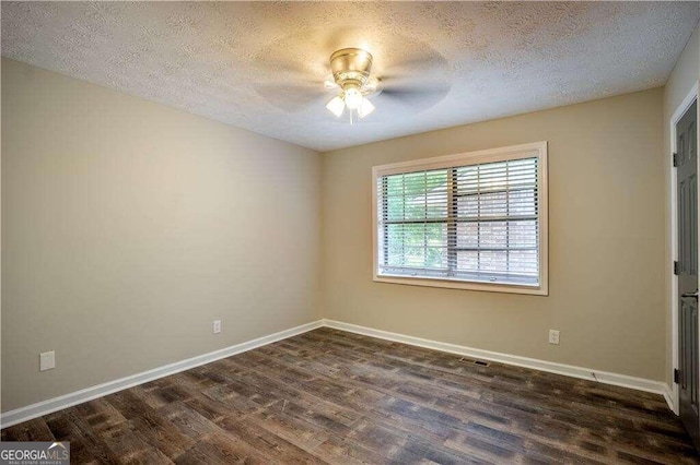
<svg viewBox="0 0 700 465"><path fill-rule="evenodd" d="M547 371L550 373L563 374L565 377L580 378L584 380L598 381L604 384L612 384L622 388L630 388L638 391L653 392L661 394L666 400L668 407L675 410L670 386L662 381L646 380L643 378L629 377L627 374L610 373L608 371L594 370L592 368L575 367L572 365L556 363L553 361L539 360L536 358L521 357L517 355L501 354L498 351L482 350L474 347L460 346L456 344L441 343L438 341L423 339L421 337L408 336L405 334L390 333L388 331L374 330L372 327L359 326L357 324L343 323L335 320L323 320L323 325L336 330L348 331L365 336L378 337L381 339L394 341L412 346L424 347L434 350L446 351L467 356L470 358L497 361L499 363L513 365L515 367L530 368L534 370Z"/></svg>

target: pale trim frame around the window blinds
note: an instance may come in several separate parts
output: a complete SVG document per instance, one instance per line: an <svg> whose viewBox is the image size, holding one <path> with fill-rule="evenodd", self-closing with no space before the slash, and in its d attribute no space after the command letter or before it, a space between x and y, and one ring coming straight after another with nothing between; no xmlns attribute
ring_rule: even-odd
<svg viewBox="0 0 700 465"><path fill-rule="evenodd" d="M483 163L503 162L509 159L532 158L538 160L538 224L539 224L539 286L518 284L491 284L468 281L445 279L442 277L406 277L381 275L378 258L378 212L377 212L377 179L382 176L397 175L410 171L423 171L464 165L478 165ZM549 182L547 178L547 141L529 144L512 145L508 147L489 148L476 152L466 152L454 155L444 155L431 158L421 158L410 162L393 163L372 167L372 262L373 281L375 283L402 284L410 286L443 287L452 289L486 290L491 293L527 294L536 296L549 295Z"/></svg>

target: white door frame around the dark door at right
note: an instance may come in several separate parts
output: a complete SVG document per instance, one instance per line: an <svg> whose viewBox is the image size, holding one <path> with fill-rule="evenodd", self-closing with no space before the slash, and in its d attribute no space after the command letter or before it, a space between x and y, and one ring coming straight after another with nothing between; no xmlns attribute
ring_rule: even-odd
<svg viewBox="0 0 700 465"><path fill-rule="evenodd" d="M678 105L678 107L676 107L676 111L674 111L674 115L670 117L670 154L676 153L676 124L678 123L678 121L680 121L680 118L686 114L686 111L690 108L690 106L693 104L693 102L698 100L698 87L699 87L699 83L700 81L696 81L696 83L693 84L692 88L690 90L690 92L686 95L686 97L682 99L682 102L680 103L680 105ZM700 116L700 102L698 103L698 116ZM698 121L700 121L700 119L698 119ZM696 131L696 134L700 134L699 131ZM696 135L697 136L697 135ZM698 146L698 144L696 143L696 147ZM678 276L676 276L674 274L673 271L673 262L678 260L678 225L677 225L677 220L678 220L678 215L677 215L677 208L678 208L678 199L677 199L677 187L676 187L676 181L677 181L677 176L676 176L676 169L674 169L674 160L673 160L673 156L668 156L668 166L669 166L669 200L670 200L670 346L672 346L672 368L670 368L670 401L672 401L672 409L674 412L674 414L678 415L679 414L679 391L678 391L678 384L676 384L673 381L673 373L674 370L678 368ZM698 165L700 165L700 157L698 157ZM700 166L698 169L698 172L700 172ZM698 193L699 193L699 199L700 199L700 183L698 184ZM700 230L700 215L698 215L698 230ZM700 254L700 253L699 253ZM700 278L699 281L699 285L700 285ZM700 329L698 331L698 334L700 334ZM700 371L700 368L699 368Z"/></svg>

